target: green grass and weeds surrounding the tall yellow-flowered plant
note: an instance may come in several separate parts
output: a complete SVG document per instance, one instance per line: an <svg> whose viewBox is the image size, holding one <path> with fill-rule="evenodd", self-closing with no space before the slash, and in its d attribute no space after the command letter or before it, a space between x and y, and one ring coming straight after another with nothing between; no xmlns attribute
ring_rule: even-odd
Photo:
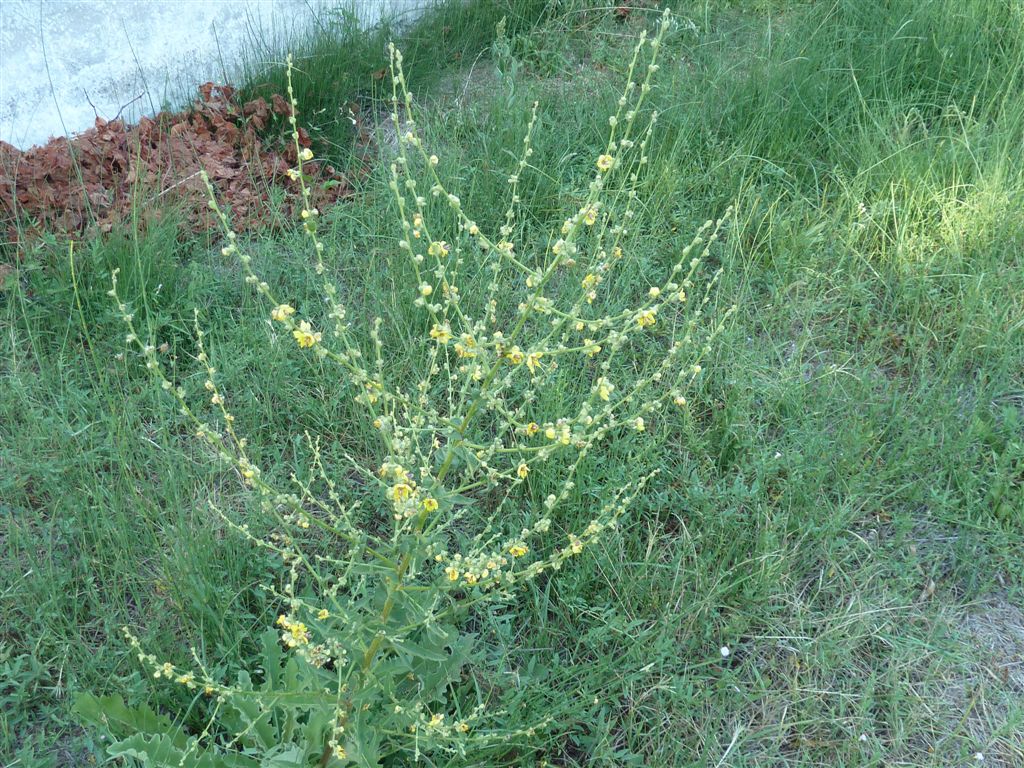
<svg viewBox="0 0 1024 768"><path fill-rule="evenodd" d="M662 481L622 536L475 618L494 665L481 679L522 722L556 717L523 765L1020 765L1024 15L999 0L677 6L692 26L653 93L651 227L616 291L646 290L731 204L714 257L719 300L739 311L687 415L653 430ZM474 45L507 15L447 12L439 29L477 18ZM541 100L523 194L540 238L598 153L649 19L529 17L417 97L481 224L505 210L510 153ZM421 71L451 52L435 32ZM342 90L309 68L304 98L372 93L376 59L352 60ZM407 275L383 179L326 215L326 238L350 312L387 318L400 376L417 321L395 300ZM297 236L254 247L284 296L314 300ZM6 765L101 759L69 714L74 691L187 703L142 679L123 624L162 657L195 644L229 670L275 614L258 588L272 564L205 508L216 497L245 514L244 496L123 356L114 268L185 381L202 381L199 308L239 426L275 471L298 461L302 429L373 451L347 426L343 387L268 337L215 243L169 217L80 244L72 266L63 243L41 243L0 294ZM589 501L581 489L566 527Z"/></svg>

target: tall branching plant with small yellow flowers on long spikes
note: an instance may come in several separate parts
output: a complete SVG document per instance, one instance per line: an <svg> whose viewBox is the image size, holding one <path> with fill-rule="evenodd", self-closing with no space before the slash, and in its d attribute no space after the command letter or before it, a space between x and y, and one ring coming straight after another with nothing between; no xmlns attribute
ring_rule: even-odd
<svg viewBox="0 0 1024 768"><path fill-rule="evenodd" d="M125 629L147 674L194 694L207 724L185 733L120 698L82 696L79 713L110 732L111 755L231 768L505 765L537 757L531 744L558 723L517 722L498 694L474 687L467 670L484 662L467 621L488 603L514 608L516 590L616 536L631 503L657 482L653 474L601 488L585 524L570 528L560 512L588 458L642 445L659 421L671 421L662 418L667 411L687 408L687 390L728 315L709 308L718 274L698 285L722 220L707 222L645 293L614 293L616 269L646 225L644 166L657 115L645 101L670 23L667 12L652 37L639 39L580 204L540 246L527 245L538 241L525 238L519 216L538 104L508 177L508 209L495 217L497 231L485 232L442 180L391 47L394 258L410 275L399 300L422 328L408 349L412 379L392 380L388 329L350 317L324 263L328 246L303 170L312 153L298 144L294 109L298 162L289 175L302 185L300 225L322 283L322 313L300 312L275 295L210 187L224 255L239 260L281 337L342 377L374 430L371 465L346 456L338 466L307 434L306 471L271 478L237 431L198 315L197 356L207 375L202 390L187 391L142 338L115 275L111 294L127 341L197 437L233 468L269 522L259 529L271 532L211 508L283 562L286 577L268 588L280 615L259 639L261 654L231 680L195 651L188 666L166 663ZM291 87L289 95L294 108ZM530 484L540 477L550 493L535 497Z"/></svg>

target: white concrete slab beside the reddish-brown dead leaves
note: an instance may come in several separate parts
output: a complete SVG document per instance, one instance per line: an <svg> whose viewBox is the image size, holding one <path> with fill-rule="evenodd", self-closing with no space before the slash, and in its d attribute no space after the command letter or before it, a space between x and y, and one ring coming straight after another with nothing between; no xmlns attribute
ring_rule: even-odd
<svg viewBox="0 0 1024 768"><path fill-rule="evenodd" d="M419 4L422 4L420 2ZM242 60L280 56L287 41L347 7L364 24L412 0L0 0L0 139L19 148L136 119L224 82Z"/></svg>

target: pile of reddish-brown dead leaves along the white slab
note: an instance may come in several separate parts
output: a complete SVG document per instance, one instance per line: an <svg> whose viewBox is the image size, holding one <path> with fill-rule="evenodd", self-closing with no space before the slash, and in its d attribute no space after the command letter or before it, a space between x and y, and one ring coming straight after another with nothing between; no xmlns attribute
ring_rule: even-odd
<svg viewBox="0 0 1024 768"><path fill-rule="evenodd" d="M229 85L205 83L181 112L143 117L137 124L106 121L72 137L51 138L20 151L0 141L0 215L8 244L45 232L109 232L138 212L145 223L158 202L175 202L193 231L213 225L202 171L206 171L239 230L272 225L271 189L284 193L286 215L301 207L298 161L288 117L274 93L240 103ZM312 144L299 128L299 145ZM352 194L348 177L324 161L303 163L312 178L312 205L326 210ZM366 172L361 169L360 172Z"/></svg>

